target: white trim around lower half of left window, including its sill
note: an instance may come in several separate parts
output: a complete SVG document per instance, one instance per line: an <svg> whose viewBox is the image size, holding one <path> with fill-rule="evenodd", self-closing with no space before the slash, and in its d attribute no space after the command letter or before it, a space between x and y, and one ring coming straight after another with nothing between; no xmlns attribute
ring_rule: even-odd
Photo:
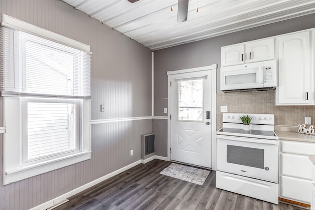
<svg viewBox="0 0 315 210"><path fill-rule="evenodd" d="M82 149L74 154L22 165L22 97L3 97L3 185L44 174L91 159L90 100L82 100L80 140Z"/></svg>

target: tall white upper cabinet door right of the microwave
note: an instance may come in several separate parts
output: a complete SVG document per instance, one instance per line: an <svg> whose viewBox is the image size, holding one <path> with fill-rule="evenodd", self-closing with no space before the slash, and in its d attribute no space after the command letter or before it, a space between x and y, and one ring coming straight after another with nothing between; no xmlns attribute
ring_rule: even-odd
<svg viewBox="0 0 315 210"><path fill-rule="evenodd" d="M311 32L300 32L278 37L279 86L277 105L310 104L311 90Z"/></svg>

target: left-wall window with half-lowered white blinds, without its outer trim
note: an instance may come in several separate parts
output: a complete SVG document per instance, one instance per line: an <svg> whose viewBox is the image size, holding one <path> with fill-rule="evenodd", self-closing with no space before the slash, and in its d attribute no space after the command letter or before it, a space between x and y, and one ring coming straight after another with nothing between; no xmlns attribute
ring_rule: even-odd
<svg viewBox="0 0 315 210"><path fill-rule="evenodd" d="M1 96L20 98L23 164L80 151L91 54L5 27L0 36Z"/></svg>

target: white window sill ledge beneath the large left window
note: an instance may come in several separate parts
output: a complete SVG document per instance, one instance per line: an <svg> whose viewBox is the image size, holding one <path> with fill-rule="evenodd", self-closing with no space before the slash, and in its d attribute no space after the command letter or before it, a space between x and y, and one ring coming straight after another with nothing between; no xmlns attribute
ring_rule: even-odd
<svg viewBox="0 0 315 210"><path fill-rule="evenodd" d="M91 159L91 151L84 151L49 161L23 166L19 169L10 170L3 175L3 185L26 179L35 175L44 174L75 163Z"/></svg>

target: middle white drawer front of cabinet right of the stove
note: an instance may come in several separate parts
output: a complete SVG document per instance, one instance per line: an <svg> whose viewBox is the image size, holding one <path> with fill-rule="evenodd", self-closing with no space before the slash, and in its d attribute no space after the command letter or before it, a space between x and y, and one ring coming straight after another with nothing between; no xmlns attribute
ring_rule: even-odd
<svg viewBox="0 0 315 210"><path fill-rule="evenodd" d="M281 175L312 180L312 162L308 156L281 154Z"/></svg>

